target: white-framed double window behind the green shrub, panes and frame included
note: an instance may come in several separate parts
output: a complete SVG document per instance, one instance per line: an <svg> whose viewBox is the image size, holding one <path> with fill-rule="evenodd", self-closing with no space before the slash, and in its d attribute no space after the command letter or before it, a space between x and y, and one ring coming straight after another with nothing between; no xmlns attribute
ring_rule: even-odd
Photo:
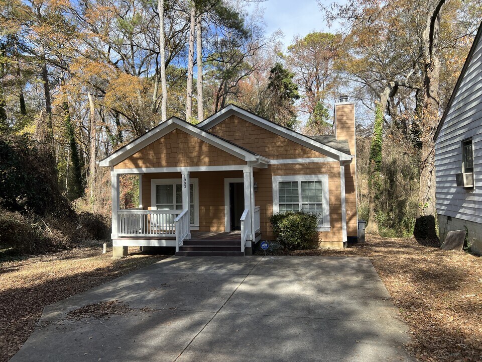
<svg viewBox="0 0 482 362"><path fill-rule="evenodd" d="M273 176L273 212L318 215L318 231L330 230L328 175Z"/></svg>

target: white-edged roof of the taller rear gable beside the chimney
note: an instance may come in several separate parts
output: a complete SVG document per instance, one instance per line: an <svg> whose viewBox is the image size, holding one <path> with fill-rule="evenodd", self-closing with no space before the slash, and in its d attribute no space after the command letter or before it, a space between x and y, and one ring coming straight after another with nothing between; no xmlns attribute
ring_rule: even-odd
<svg viewBox="0 0 482 362"><path fill-rule="evenodd" d="M276 133L280 136L283 136L293 142L301 144L307 148L310 148L314 151L326 154L327 156L331 156L335 159L339 159L340 161L351 160L351 155L349 148L348 150L345 148L343 142L340 141L332 141L330 140L330 145L321 142L321 139L315 139L314 137L308 137L302 135L301 133L292 131L286 127L280 126L274 122L271 122L265 118L255 115L250 111L247 111L243 108L234 106L232 104L226 106L222 110L217 113L214 113L209 118L206 118L204 121L198 123L196 126L203 129L208 130L220 123L221 121L225 120L229 116L238 116L239 118L248 120L249 122L260 126L264 129L267 129L273 133ZM338 143L340 142L340 143ZM342 149L342 150L341 150Z"/></svg>

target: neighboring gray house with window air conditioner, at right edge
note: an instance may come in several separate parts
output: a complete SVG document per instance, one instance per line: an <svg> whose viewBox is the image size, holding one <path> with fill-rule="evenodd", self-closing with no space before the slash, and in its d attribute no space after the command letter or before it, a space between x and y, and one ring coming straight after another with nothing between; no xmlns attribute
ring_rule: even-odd
<svg viewBox="0 0 482 362"><path fill-rule="evenodd" d="M482 254L482 24L434 140L440 239L466 228Z"/></svg>

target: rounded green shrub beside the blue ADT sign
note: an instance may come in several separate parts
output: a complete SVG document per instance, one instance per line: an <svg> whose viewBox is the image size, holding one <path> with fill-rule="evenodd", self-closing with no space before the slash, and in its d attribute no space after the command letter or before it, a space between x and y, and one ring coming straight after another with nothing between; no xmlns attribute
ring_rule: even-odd
<svg viewBox="0 0 482 362"><path fill-rule="evenodd" d="M318 218L316 214L286 211L270 217L277 241L285 250L306 249L314 241Z"/></svg>

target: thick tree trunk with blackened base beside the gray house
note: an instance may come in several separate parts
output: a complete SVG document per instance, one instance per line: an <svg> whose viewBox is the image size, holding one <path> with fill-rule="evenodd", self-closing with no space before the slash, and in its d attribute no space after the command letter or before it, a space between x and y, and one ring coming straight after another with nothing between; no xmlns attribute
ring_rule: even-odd
<svg viewBox="0 0 482 362"><path fill-rule="evenodd" d="M427 16L422 35L424 52L424 95L421 121L420 190L418 193L417 220L413 234L416 238L436 239L435 232L435 142L433 135L439 122L440 58L438 38L440 10L445 0L440 0Z"/></svg>

